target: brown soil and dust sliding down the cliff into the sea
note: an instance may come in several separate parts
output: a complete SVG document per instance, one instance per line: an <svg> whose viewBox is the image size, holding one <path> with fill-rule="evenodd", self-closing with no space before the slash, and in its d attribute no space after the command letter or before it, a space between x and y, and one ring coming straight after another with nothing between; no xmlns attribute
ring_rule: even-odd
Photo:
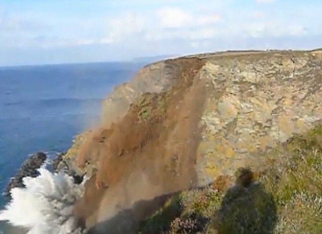
<svg viewBox="0 0 322 234"><path fill-rule="evenodd" d="M101 126L83 145L78 165L96 164L75 214L91 227L150 200L195 185L205 84L202 59L176 59L181 80L171 90L146 93L117 123ZM150 211L152 212L152 211ZM144 213L144 214L143 214ZM148 215L138 209L139 221Z"/></svg>

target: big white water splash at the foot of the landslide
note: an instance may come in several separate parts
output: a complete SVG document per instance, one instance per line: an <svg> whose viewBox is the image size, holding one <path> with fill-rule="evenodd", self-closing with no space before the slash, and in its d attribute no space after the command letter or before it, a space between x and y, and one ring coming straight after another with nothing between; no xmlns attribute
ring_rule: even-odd
<svg viewBox="0 0 322 234"><path fill-rule="evenodd" d="M75 184L72 177L39 169L36 178L25 177L25 188L13 188L12 199L0 220L25 227L27 234L80 234L72 214L74 204L84 191L84 182Z"/></svg>

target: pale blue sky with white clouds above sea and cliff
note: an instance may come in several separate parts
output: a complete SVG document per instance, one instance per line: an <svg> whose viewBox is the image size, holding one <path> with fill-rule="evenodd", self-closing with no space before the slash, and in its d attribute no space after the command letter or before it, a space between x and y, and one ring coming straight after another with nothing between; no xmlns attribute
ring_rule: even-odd
<svg viewBox="0 0 322 234"><path fill-rule="evenodd" d="M320 0L1 0L0 66L322 47Z"/></svg>

